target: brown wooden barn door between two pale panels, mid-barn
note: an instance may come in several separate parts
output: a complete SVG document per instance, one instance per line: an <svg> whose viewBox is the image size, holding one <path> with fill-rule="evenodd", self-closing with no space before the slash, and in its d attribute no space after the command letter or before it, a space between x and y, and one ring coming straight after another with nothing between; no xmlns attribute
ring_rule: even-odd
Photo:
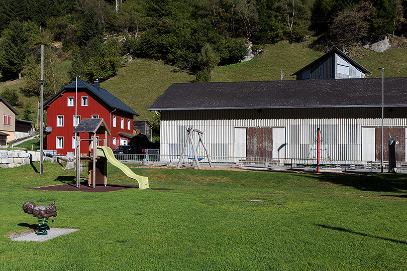
<svg viewBox="0 0 407 271"><path fill-rule="evenodd" d="M273 157L273 128L250 127L246 130L246 157Z"/></svg>

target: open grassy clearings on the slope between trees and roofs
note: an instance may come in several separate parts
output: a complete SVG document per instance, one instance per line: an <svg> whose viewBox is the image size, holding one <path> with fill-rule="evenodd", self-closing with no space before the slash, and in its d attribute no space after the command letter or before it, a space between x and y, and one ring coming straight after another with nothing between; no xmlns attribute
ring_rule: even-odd
<svg viewBox="0 0 407 271"><path fill-rule="evenodd" d="M289 44L280 42L267 46L263 52L249 62L217 67L212 81L259 81L280 80L283 70L284 80L293 80L289 75L311 63L323 52L313 51L309 43ZM407 53L405 49L391 49L375 53L363 48L353 49L349 55L366 69L373 72L371 77L381 77L377 68L384 67L385 77L407 76ZM61 63L61 70L66 76L69 62ZM137 113L138 118L152 119L155 114L148 112L147 107L172 83L189 82L194 76L186 72L175 72L175 68L162 61L134 59L122 67L118 75L101 83L118 98L127 103ZM18 89L24 84L18 81L0 83L0 92L7 86ZM22 97L23 102L37 103L37 98ZM23 108L17 108L23 111Z"/></svg>

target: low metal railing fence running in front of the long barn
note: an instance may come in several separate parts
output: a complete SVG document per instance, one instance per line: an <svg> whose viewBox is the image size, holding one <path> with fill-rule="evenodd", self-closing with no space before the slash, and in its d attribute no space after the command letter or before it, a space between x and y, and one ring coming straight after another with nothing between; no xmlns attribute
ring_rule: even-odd
<svg viewBox="0 0 407 271"><path fill-rule="evenodd" d="M133 155L115 155L116 159L123 163L158 163L176 165L179 156L160 155L160 154L133 154ZM208 165L208 158L199 161L201 166ZM315 159L297 159L297 158L258 158L258 157L211 157L211 162L215 166L234 166L241 168L262 168L262 169L295 169L295 168L316 168ZM184 165L192 165L192 158L183 158L181 161ZM332 170L355 170L365 172L380 172L380 161L349 161L349 160L332 160L320 161L321 169ZM397 172L407 172L407 162L396 163ZM388 171L388 162L383 161L383 172Z"/></svg>

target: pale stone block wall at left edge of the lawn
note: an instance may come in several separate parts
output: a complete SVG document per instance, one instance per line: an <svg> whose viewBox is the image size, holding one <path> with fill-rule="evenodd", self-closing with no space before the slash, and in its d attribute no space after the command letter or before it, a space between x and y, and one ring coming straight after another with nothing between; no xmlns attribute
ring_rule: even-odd
<svg viewBox="0 0 407 271"><path fill-rule="evenodd" d="M51 158L44 156L44 160ZM40 161L40 152L0 150L0 168L14 168Z"/></svg>

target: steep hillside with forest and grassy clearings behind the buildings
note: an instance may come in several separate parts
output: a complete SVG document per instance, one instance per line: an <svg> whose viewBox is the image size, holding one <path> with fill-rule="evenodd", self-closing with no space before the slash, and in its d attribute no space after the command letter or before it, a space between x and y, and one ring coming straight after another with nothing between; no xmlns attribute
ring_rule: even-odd
<svg viewBox="0 0 407 271"><path fill-rule="evenodd" d="M75 75L98 78L152 119L145 109L173 82L276 80L281 70L285 80L333 46L369 65L379 56L361 46L405 35L406 7L407 0L3 0L0 94L34 120L44 44L45 99ZM250 43L262 53L240 63ZM405 76L393 61L386 75Z"/></svg>

